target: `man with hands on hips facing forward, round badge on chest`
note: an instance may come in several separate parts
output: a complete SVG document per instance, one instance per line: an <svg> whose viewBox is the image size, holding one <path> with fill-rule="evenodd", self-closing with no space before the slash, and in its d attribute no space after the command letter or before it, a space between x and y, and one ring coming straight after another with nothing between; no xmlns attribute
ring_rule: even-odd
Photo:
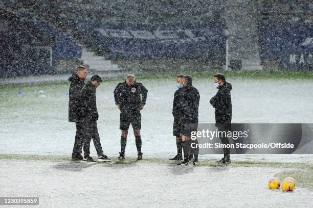
<svg viewBox="0 0 313 208"><path fill-rule="evenodd" d="M136 82L135 75L128 74L125 82L119 83L114 90L115 104L120 110L120 129L121 135L121 152L120 160L125 159L125 148L127 142L128 128L131 124L133 134L136 138L136 147L138 152L138 160L142 160L141 152L141 114L147 99L148 90L141 84Z"/></svg>

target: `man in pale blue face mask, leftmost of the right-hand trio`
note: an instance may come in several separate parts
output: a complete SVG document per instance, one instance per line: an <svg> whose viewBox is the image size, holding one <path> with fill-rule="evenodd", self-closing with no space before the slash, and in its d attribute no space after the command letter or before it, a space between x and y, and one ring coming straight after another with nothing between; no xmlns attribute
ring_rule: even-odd
<svg viewBox="0 0 313 208"><path fill-rule="evenodd" d="M177 154L174 158L169 160L183 160L183 142L181 135L183 77L184 75L177 75L176 77L176 87L178 89L174 93L172 114L174 116L173 135L176 137Z"/></svg>

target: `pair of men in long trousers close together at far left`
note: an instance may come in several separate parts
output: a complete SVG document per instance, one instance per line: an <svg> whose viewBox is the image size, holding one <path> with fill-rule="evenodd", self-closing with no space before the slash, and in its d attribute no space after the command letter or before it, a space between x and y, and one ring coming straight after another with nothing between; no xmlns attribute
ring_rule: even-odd
<svg viewBox="0 0 313 208"><path fill-rule="evenodd" d="M110 159L103 154L98 133L97 120L99 118L96 103L96 88L102 82L99 75L94 75L85 84L87 68L76 67L76 72L69 78L70 99L69 99L69 121L76 124L76 135L72 160L84 160L95 162L90 156L90 142L94 141L98 154L98 161L109 162ZM82 146L84 156L81 155Z"/></svg>

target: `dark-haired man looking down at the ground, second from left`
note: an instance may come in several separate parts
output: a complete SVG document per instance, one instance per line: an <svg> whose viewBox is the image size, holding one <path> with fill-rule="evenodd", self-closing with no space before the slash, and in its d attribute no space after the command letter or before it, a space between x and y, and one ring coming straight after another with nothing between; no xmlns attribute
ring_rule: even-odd
<svg viewBox="0 0 313 208"><path fill-rule="evenodd" d="M90 157L90 142L93 139L98 154L98 161L110 162L111 160L103 154L100 137L98 133L97 120L99 118L96 102L96 88L102 82L99 75L93 75L90 82L80 92L80 113L79 117L83 123L84 133L84 161L95 162Z"/></svg>

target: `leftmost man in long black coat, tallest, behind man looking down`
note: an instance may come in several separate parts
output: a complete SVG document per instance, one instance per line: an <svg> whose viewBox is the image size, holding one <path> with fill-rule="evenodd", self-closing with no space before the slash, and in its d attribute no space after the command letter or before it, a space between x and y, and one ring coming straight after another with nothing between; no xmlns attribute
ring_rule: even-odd
<svg viewBox="0 0 313 208"><path fill-rule="evenodd" d="M87 68L85 66L77 66L76 72L69 78L70 85L70 99L69 99L69 122L75 122L76 135L72 153L72 160L82 160L81 148L83 142L83 126L78 118L79 108L79 93L85 86L85 79L87 76Z"/></svg>

